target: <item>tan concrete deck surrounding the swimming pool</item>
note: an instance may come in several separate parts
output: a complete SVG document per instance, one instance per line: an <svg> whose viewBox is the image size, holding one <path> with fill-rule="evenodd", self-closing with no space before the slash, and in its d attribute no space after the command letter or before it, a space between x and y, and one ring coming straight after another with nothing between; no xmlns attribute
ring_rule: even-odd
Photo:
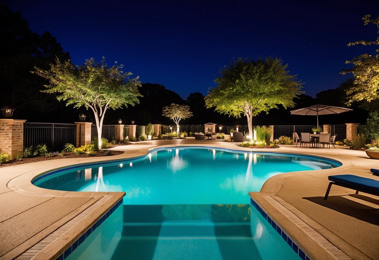
<svg viewBox="0 0 379 260"><path fill-rule="evenodd" d="M41 161L0 168L0 259L13 259L50 233L91 207L86 216L59 237L29 250L23 259L55 259L113 207L124 193L67 192L38 188L31 180L42 172L80 163L115 160L144 155L151 147L205 145L240 150L235 143L219 140L145 141L114 147L121 155ZM370 168L379 160L364 151L309 149L280 146L258 151L319 155L341 161L335 169L290 172L266 181L260 192L250 196L296 242L311 259L379 259L379 197L333 186L323 200L327 176L355 174L379 180Z"/></svg>

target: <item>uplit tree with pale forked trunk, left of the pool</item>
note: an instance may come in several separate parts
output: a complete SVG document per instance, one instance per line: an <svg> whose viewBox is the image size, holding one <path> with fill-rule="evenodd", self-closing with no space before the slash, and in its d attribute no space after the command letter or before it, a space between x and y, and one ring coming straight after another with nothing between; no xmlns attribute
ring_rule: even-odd
<svg viewBox="0 0 379 260"><path fill-rule="evenodd" d="M124 73L123 65L108 67L103 57L100 63L93 58L81 66L70 61L56 60L50 70L35 67L32 73L47 78L50 85L44 92L58 93L58 100L67 100L66 105L85 106L94 113L99 147L101 146L102 125L108 108L116 109L123 105L139 103L139 77L131 78L132 72Z"/></svg>

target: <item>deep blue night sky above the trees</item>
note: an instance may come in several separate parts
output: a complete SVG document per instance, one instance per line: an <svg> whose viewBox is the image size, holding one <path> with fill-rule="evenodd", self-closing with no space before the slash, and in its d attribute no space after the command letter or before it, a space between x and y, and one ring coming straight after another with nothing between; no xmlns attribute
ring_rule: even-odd
<svg viewBox="0 0 379 260"><path fill-rule="evenodd" d="M183 99L215 87L215 75L238 57L282 58L305 94L338 87L345 64L372 47L379 1L2 1L20 11L33 32L50 31L74 64L106 57ZM106 3L106 4L105 4ZM376 46L377 47L377 46Z"/></svg>

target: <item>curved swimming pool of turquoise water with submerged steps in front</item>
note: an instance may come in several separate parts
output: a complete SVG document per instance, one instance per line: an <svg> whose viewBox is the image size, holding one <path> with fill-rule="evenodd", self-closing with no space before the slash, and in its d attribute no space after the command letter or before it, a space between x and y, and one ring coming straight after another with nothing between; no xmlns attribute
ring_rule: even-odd
<svg viewBox="0 0 379 260"><path fill-rule="evenodd" d="M282 172L340 165L312 156L170 147L136 160L74 166L39 177L34 184L69 191L125 191L122 235L112 259L296 259L251 207L248 192L259 191L269 177ZM88 251L88 246L79 246L69 258L85 258Z"/></svg>

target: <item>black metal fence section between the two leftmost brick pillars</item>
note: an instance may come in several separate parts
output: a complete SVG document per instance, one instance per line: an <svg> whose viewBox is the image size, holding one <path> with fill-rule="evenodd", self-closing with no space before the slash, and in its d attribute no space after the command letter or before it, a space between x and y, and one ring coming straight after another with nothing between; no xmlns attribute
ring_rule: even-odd
<svg viewBox="0 0 379 260"><path fill-rule="evenodd" d="M24 147L46 144L50 151L61 151L64 144L75 142L76 124L24 123Z"/></svg>

